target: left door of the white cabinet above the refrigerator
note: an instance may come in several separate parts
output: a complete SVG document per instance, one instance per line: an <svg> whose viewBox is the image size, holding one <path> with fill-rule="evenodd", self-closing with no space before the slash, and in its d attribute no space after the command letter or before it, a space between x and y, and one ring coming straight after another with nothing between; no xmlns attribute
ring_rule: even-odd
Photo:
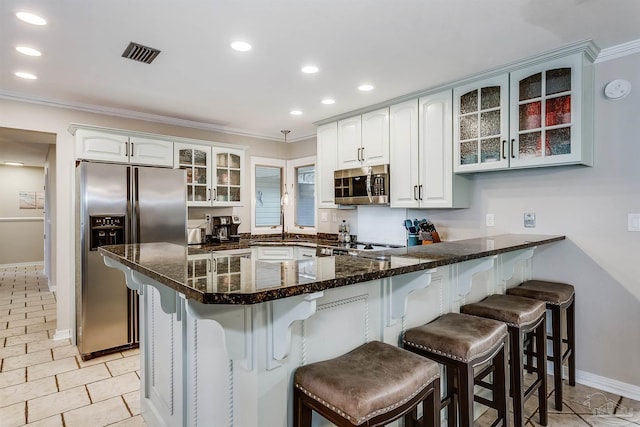
<svg viewBox="0 0 640 427"><path fill-rule="evenodd" d="M129 137L87 129L76 131L76 158L129 162Z"/></svg>

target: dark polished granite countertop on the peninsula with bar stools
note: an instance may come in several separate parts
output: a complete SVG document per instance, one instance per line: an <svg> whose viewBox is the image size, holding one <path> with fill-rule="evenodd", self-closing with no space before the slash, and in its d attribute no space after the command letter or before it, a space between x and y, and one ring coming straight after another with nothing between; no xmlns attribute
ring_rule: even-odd
<svg viewBox="0 0 640 427"><path fill-rule="evenodd" d="M257 260L251 243L197 248L171 243L99 248L112 258L205 304L256 304L369 280L455 264L564 240L565 236L501 234L364 253L303 260ZM314 242L271 245L313 246ZM264 245L263 245L264 244ZM245 249L245 250L242 250Z"/></svg>

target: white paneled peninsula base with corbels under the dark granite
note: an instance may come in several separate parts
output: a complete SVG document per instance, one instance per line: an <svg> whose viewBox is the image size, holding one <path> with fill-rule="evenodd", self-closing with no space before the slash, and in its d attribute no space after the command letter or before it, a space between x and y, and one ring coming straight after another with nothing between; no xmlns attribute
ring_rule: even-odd
<svg viewBox="0 0 640 427"><path fill-rule="evenodd" d="M287 427L298 366L530 278L534 248L253 305L202 304L105 257L140 294L141 412L151 427ZM409 260L405 260L409 261ZM332 424L314 414L314 426Z"/></svg>

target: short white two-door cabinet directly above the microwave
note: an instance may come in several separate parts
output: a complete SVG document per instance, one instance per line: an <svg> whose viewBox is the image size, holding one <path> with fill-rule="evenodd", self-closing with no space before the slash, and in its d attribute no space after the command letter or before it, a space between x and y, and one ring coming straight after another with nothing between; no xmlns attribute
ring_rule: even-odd
<svg viewBox="0 0 640 427"><path fill-rule="evenodd" d="M338 121L338 169L388 163L388 108Z"/></svg>

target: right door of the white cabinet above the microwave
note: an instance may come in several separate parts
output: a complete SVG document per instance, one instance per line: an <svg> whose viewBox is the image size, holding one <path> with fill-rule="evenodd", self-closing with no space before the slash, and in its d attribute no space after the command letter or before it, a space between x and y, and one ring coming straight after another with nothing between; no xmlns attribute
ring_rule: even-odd
<svg viewBox="0 0 640 427"><path fill-rule="evenodd" d="M389 163L389 108L362 115L360 157L365 166Z"/></svg>

